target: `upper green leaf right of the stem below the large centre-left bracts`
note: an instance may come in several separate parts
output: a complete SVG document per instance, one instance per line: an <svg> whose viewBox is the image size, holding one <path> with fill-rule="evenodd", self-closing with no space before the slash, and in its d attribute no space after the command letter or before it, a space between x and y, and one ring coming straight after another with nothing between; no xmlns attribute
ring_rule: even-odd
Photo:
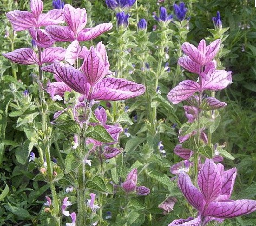
<svg viewBox="0 0 256 226"><path fill-rule="evenodd" d="M114 139L109 135L108 131L102 127L102 125L96 125L95 127L89 125L87 137L96 139L96 141L100 141L102 143L114 142Z"/></svg>

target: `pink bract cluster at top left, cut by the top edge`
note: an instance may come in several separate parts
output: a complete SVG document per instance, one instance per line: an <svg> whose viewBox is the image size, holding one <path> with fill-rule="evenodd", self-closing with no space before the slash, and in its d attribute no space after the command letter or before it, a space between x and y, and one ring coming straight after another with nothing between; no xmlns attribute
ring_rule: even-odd
<svg viewBox="0 0 256 226"><path fill-rule="evenodd" d="M30 1L31 12L14 10L6 14L15 31L40 28L41 26L54 25L64 22L62 10L50 10L42 14L43 2L41 0Z"/></svg>

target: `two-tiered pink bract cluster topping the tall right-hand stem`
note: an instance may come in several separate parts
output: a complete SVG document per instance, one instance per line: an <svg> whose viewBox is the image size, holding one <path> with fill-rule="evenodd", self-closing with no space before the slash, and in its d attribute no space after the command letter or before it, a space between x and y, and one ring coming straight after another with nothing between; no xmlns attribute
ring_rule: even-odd
<svg viewBox="0 0 256 226"><path fill-rule="evenodd" d="M195 94L204 90L218 91L227 87L232 82L231 71L216 70L216 62L213 58L220 49L220 39L216 39L206 46L205 40L201 40L196 48L189 43L183 43L181 49L187 54L181 57L178 63L188 71L199 75L199 82L185 80L170 90L167 95L170 102L178 104ZM224 102L216 100L208 104L213 104L216 108L223 107Z"/></svg>

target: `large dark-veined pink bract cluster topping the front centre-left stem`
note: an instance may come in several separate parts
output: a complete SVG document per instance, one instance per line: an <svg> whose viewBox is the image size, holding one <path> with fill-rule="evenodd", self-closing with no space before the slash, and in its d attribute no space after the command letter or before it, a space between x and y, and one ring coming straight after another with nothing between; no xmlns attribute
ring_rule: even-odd
<svg viewBox="0 0 256 226"><path fill-rule="evenodd" d="M80 51L80 48L76 50ZM96 48L92 46L89 50L84 49L81 52L84 62L80 70L59 61L55 61L50 68L47 66L47 70L53 70L58 79L88 100L117 101L145 92L144 85L121 78L104 78L109 71L109 62L105 46L101 42ZM73 54L79 56L74 51Z"/></svg>

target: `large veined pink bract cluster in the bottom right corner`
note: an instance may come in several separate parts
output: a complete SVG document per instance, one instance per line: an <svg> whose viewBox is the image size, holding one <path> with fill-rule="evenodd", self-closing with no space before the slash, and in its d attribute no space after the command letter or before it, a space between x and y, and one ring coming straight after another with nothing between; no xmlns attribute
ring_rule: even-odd
<svg viewBox="0 0 256 226"><path fill-rule="evenodd" d="M224 171L224 165L215 164L206 159L198 174L198 188L192 184L191 178L182 172L178 185L189 204L199 211L198 217L187 220L175 220L169 224L206 225L209 221L222 222L225 218L250 214L256 210L255 200L229 200L232 194L237 169Z"/></svg>

